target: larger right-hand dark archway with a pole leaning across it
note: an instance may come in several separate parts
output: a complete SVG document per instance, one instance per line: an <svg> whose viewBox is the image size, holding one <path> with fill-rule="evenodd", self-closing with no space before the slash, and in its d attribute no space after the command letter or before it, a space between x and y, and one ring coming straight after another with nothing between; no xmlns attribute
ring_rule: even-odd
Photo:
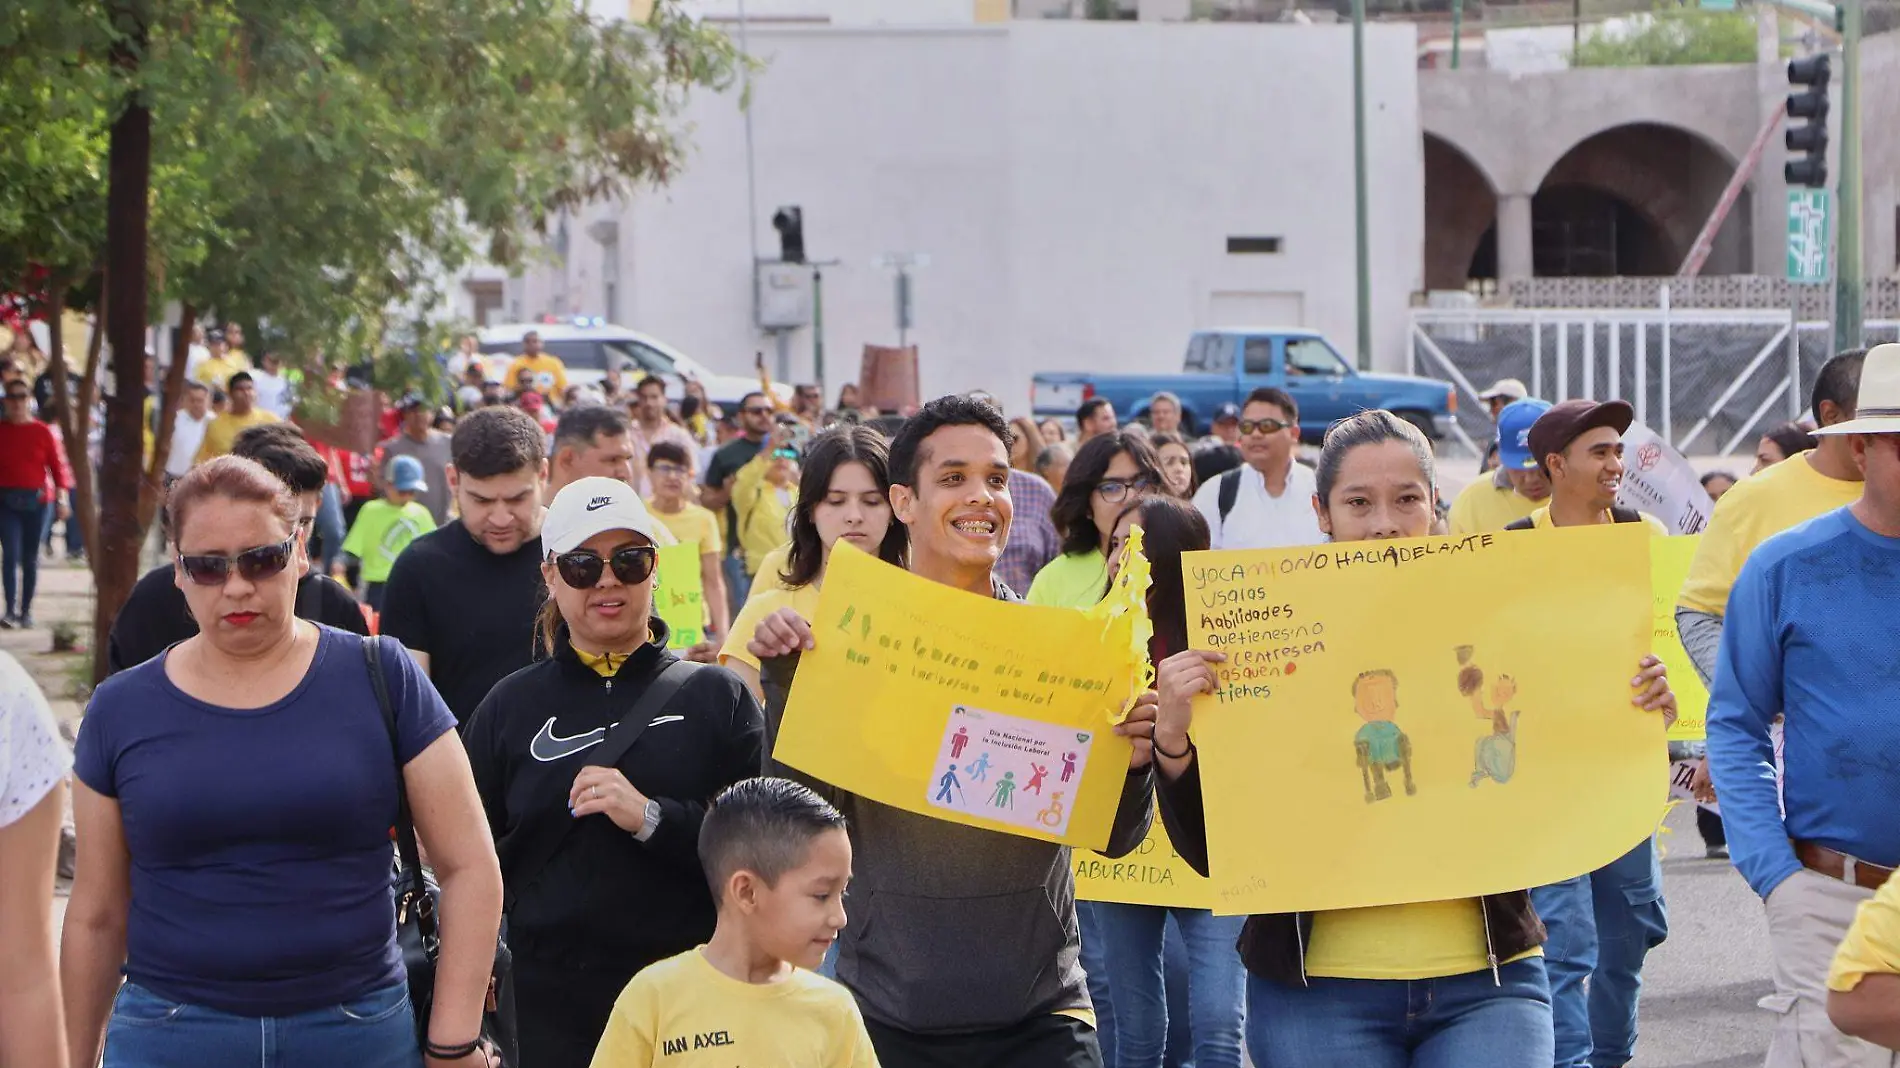
<svg viewBox="0 0 1900 1068"><path fill-rule="evenodd" d="M1720 148L1674 125L1586 137L1531 198L1531 266L1539 277L1676 274L1733 173ZM1744 190L1702 274L1748 272L1748 228Z"/></svg>

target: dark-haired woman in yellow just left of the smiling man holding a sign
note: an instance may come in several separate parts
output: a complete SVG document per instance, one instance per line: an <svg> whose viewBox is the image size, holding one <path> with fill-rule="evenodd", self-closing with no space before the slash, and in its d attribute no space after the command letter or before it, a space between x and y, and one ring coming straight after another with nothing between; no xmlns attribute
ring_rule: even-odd
<svg viewBox="0 0 1900 1068"><path fill-rule="evenodd" d="M825 566L838 542L849 542L884 563L904 566L904 524L891 521L891 462L884 435L868 426L840 426L811 439L790 515L785 570L760 574L739 618L732 621L720 663L764 696L752 635L771 627L804 627L817 612ZM741 475L743 477L743 475ZM781 526L783 530L783 526ZM750 547L747 557L750 559ZM779 663L792 658L781 658ZM770 749L770 747L768 747Z"/></svg>

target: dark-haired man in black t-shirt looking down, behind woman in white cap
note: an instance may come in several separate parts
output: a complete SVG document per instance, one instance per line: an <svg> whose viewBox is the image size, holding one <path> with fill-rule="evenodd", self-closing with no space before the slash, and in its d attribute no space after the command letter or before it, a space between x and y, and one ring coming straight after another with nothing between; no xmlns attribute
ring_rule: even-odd
<svg viewBox="0 0 1900 1068"><path fill-rule="evenodd" d="M534 661L545 437L513 407L477 409L448 441L460 519L403 549L382 591L382 633L403 642L467 724L488 690Z"/></svg>

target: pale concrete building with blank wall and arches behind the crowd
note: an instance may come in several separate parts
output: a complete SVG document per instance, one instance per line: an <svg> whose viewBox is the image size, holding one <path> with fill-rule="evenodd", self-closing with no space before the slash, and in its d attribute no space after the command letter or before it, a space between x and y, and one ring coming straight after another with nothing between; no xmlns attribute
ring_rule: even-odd
<svg viewBox="0 0 1900 1068"><path fill-rule="evenodd" d="M559 220L551 266L486 293L490 317L606 315L747 367L771 350L752 258L777 258L771 213L800 205L809 257L838 260L830 391L863 344L897 340L878 266L893 253L929 257L910 333L927 393L986 388L1015 407L1034 371L1168 367L1205 325L1315 327L1353 353L1347 27L984 23L988 0L931 2L954 25L771 0L781 21L749 30L764 65L750 165L737 89L690 101L671 184ZM1754 65L1419 70L1402 23L1368 27L1366 46L1376 367L1400 365L1423 291L1499 279L1530 298L1535 281L1537 300L1569 300L1550 279L1674 276L1788 87L1771 13ZM1900 34L1862 57L1864 274L1881 279L1900 268L1900 137L1881 124L1900 105ZM1775 135L1702 268L1710 300L1790 300L1782 158ZM813 331L787 340L787 374L813 378Z"/></svg>

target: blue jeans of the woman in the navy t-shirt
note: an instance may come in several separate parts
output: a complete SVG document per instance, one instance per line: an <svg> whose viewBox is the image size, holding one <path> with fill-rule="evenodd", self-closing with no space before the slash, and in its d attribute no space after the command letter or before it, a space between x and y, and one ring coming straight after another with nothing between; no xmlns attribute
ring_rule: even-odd
<svg viewBox="0 0 1900 1068"><path fill-rule="evenodd" d="M408 984L294 1017L234 1017L127 982L106 1022L103 1068L422 1068Z"/></svg>

